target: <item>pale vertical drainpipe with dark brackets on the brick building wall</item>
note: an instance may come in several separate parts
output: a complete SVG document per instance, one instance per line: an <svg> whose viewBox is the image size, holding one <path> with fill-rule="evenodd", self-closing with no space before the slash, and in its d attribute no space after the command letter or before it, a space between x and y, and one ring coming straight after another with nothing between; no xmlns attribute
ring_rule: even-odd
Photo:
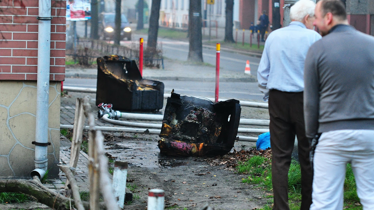
<svg viewBox="0 0 374 210"><path fill-rule="evenodd" d="M49 103L49 60L51 0L39 0L38 23L38 74L36 95L35 170L33 176L43 178L48 166L48 103Z"/></svg>

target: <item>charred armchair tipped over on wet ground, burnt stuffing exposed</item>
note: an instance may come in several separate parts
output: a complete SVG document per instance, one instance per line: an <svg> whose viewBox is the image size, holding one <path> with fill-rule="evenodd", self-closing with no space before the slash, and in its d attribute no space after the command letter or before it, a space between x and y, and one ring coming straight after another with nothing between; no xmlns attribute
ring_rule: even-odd
<svg viewBox="0 0 374 210"><path fill-rule="evenodd" d="M172 93L159 135L160 152L172 156L229 152L236 139L240 111L235 99L213 103Z"/></svg>

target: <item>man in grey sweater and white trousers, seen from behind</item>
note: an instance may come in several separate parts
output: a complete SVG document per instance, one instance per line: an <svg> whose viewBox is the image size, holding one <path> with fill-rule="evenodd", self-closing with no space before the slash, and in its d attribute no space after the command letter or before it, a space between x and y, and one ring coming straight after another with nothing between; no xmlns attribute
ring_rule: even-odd
<svg viewBox="0 0 374 210"><path fill-rule="evenodd" d="M374 209L374 38L348 24L340 0L320 0L321 40L306 56L306 136L316 145L310 210L343 209L347 163L364 210ZM318 139L318 138L317 138Z"/></svg>

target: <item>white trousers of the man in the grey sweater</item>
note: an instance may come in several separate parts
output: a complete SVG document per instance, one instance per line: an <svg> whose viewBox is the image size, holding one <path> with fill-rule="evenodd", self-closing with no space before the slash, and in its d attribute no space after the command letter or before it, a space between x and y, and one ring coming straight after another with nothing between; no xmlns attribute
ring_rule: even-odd
<svg viewBox="0 0 374 210"><path fill-rule="evenodd" d="M322 133L314 156L310 210L342 210L347 163L355 175L363 210L374 210L374 130Z"/></svg>

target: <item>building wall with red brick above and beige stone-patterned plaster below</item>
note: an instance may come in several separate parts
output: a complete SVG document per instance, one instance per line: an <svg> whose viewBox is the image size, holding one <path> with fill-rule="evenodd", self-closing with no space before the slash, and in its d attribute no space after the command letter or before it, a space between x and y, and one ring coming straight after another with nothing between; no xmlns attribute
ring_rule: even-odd
<svg viewBox="0 0 374 210"><path fill-rule="evenodd" d="M58 176L66 1L51 1L48 169ZM38 0L0 1L0 177L29 177L36 140Z"/></svg>

